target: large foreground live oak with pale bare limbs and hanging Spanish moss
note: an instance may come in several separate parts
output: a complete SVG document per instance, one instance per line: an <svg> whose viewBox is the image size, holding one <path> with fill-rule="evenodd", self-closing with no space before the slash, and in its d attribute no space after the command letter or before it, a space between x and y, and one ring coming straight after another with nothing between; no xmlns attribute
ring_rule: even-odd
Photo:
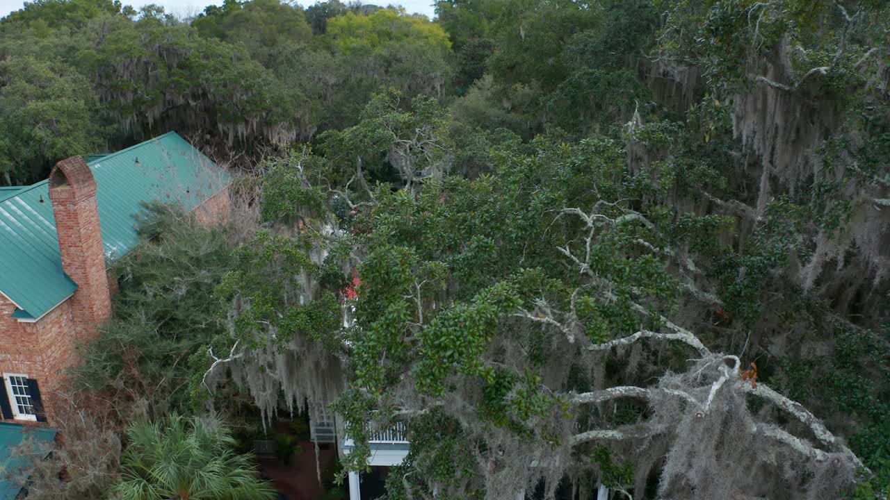
<svg viewBox="0 0 890 500"><path fill-rule="evenodd" d="M375 109L358 127L380 129ZM503 138L491 173L400 190L360 184L348 155L344 170L305 152L273 165L263 203L292 210L269 213L224 281L229 349L208 351L202 383L231 368L269 415L332 404L357 443L349 468L374 429L407 422L393 498L852 491L872 477L862 460L758 380L744 347L690 329L677 297L719 301L695 262L735 220L671 205L719 177L671 133L635 117L620 139ZM658 163L628 164L647 149Z"/></svg>

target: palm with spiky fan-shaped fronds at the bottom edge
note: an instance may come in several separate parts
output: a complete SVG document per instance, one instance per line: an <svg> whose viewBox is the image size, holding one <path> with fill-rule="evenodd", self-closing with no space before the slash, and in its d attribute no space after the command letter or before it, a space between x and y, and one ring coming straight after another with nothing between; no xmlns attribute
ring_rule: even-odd
<svg viewBox="0 0 890 500"><path fill-rule="evenodd" d="M231 431L215 418L170 415L132 423L121 460L122 500L267 500L276 493L257 478L251 456L236 454Z"/></svg>

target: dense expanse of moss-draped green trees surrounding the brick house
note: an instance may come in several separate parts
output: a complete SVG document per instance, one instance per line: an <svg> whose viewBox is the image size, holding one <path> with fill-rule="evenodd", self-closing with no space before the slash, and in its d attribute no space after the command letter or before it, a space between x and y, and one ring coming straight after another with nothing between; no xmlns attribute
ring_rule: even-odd
<svg viewBox="0 0 890 500"><path fill-rule="evenodd" d="M224 228L151 208L29 498L325 409L341 479L407 424L387 500L890 496L890 4L435 12L0 21L0 184L169 130L238 175Z"/></svg>

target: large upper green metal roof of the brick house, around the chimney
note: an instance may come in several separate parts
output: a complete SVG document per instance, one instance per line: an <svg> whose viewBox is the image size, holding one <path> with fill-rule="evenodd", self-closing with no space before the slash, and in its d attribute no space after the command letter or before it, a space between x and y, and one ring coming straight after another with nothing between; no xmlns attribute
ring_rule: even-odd
<svg viewBox="0 0 890 500"><path fill-rule="evenodd" d="M223 190L231 177L175 132L88 162L105 258L112 262L138 243L142 203L161 201L192 210ZM48 181L0 192L0 292L39 319L77 289L61 268Z"/></svg>

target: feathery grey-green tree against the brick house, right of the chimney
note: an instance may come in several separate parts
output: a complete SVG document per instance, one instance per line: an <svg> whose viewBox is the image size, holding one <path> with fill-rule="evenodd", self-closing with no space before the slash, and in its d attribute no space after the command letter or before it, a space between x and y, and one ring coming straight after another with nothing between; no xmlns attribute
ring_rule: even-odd
<svg viewBox="0 0 890 500"><path fill-rule="evenodd" d="M116 262L114 316L80 350L79 388L114 395L120 415L147 403L151 415L188 407L188 360L224 331L216 283L232 265L222 229L167 206L150 206L142 244Z"/></svg>

